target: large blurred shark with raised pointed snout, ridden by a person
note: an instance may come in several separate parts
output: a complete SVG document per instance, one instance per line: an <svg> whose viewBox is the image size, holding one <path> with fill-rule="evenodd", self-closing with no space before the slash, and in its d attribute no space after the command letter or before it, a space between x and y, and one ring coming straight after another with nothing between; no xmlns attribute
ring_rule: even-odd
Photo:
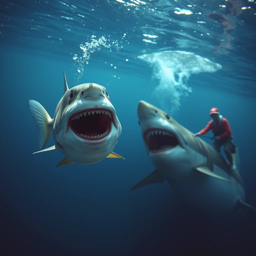
<svg viewBox="0 0 256 256"><path fill-rule="evenodd" d="M146 151L156 169L131 190L166 180L200 211L230 215L247 208L256 212L244 202L238 147L232 155L237 169L231 170L227 159L165 111L145 101L138 103L137 111Z"/></svg>

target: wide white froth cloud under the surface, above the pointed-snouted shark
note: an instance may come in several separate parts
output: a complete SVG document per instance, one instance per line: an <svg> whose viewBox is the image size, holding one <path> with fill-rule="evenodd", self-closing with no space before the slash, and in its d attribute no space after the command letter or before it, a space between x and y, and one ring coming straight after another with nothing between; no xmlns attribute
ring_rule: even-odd
<svg viewBox="0 0 256 256"><path fill-rule="evenodd" d="M187 84L191 74L212 73L222 68L218 63L186 51L161 51L138 58L150 63L153 68L153 78L158 79L159 84L152 95L170 114L178 110L180 101L192 92Z"/></svg>

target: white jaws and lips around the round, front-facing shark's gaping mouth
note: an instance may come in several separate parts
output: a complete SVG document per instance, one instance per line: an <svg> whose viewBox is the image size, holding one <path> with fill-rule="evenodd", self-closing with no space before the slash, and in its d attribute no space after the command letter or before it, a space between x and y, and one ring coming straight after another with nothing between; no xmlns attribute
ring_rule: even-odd
<svg viewBox="0 0 256 256"><path fill-rule="evenodd" d="M63 122L63 136L71 143L100 144L111 141L120 131L113 105L107 99L78 100L72 104ZM71 137L72 138L71 138Z"/></svg>

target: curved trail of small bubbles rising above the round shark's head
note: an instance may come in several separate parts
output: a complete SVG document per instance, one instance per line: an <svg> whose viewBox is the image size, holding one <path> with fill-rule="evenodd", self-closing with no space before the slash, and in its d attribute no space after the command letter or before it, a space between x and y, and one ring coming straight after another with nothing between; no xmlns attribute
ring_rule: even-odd
<svg viewBox="0 0 256 256"><path fill-rule="evenodd" d="M77 82L81 78L84 72L84 63L88 64L88 60L90 59L90 55L92 52L99 51L102 47L109 48L116 48L116 50L120 50L118 45L118 40L111 41L110 39L106 39L104 36L100 37L98 40L95 39L96 36L91 36L91 42L86 42L84 45L80 44L80 49L82 50L82 56L79 58L77 54L74 55L74 65L78 66L76 69L79 72ZM113 64L111 64L112 66Z"/></svg>

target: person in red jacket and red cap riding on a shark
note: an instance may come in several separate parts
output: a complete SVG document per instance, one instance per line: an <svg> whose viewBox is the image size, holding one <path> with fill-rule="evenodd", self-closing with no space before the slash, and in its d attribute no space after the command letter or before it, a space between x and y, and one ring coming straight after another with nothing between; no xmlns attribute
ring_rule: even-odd
<svg viewBox="0 0 256 256"><path fill-rule="evenodd" d="M230 163L231 170L235 170L236 166L233 163L233 158L231 155L231 150L234 146L234 143L232 141L233 135L231 133L229 122L226 118L220 115L217 108L210 109L210 117L212 120L206 125L204 129L196 133L195 136L201 136L212 130L214 133L214 148L220 152L221 146L224 145L224 152Z"/></svg>

